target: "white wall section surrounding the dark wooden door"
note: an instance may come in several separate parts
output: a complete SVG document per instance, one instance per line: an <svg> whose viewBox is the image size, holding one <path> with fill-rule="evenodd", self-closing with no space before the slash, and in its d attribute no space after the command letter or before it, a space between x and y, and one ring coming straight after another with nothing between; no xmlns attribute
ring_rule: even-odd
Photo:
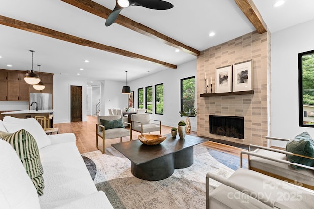
<svg viewBox="0 0 314 209"><path fill-rule="evenodd" d="M53 77L54 123L71 122L71 86L82 86L82 120L86 121L86 78L57 75Z"/></svg>

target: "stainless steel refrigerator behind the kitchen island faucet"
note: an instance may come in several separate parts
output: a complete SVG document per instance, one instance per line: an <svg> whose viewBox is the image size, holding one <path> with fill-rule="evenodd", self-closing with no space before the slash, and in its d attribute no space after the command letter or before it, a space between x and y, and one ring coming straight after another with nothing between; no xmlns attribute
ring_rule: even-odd
<svg viewBox="0 0 314 209"><path fill-rule="evenodd" d="M50 110L52 95L51 93L29 93L29 110L36 110L36 104L30 106L33 102L37 102L38 110Z"/></svg>

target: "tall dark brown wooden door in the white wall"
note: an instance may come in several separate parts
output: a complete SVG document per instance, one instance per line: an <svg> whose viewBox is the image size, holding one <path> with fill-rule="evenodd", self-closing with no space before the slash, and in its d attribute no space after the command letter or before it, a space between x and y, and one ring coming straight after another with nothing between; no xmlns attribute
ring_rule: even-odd
<svg viewBox="0 0 314 209"><path fill-rule="evenodd" d="M71 122L82 121L82 87L71 86Z"/></svg>

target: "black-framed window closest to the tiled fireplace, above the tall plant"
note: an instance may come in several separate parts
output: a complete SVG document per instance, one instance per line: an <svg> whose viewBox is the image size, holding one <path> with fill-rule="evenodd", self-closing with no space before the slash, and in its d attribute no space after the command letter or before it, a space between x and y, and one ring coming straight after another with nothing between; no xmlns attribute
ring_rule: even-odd
<svg viewBox="0 0 314 209"><path fill-rule="evenodd" d="M180 80L180 111L193 111L195 108L195 76Z"/></svg>

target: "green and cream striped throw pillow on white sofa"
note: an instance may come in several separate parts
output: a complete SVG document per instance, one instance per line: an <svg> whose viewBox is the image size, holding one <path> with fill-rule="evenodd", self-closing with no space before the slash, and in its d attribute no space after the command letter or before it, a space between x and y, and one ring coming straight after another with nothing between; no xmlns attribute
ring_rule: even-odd
<svg viewBox="0 0 314 209"><path fill-rule="evenodd" d="M34 137L26 130L21 129L13 134L0 131L0 139L12 145L37 189L38 195L43 195L44 171Z"/></svg>

